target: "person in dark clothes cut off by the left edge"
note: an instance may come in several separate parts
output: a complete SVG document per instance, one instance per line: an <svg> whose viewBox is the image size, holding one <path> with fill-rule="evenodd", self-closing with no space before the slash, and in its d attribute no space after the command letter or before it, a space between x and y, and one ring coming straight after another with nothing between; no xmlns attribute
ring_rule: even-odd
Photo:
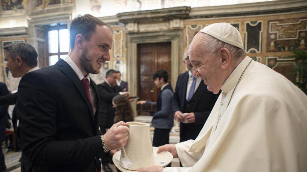
<svg viewBox="0 0 307 172"><path fill-rule="evenodd" d="M3 82L0 82L0 96L5 96L10 94L10 91L7 89L6 84ZM7 126L7 123L9 121L9 114L7 112L7 108L9 106L0 106L0 171L3 171L6 169L5 161L4 161L4 155L2 152L2 141L5 137L5 129Z"/></svg>

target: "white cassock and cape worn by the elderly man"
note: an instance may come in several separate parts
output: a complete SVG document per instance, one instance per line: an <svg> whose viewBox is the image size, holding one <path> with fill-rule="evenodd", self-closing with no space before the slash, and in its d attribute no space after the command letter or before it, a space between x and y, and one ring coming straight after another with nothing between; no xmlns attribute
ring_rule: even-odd
<svg viewBox="0 0 307 172"><path fill-rule="evenodd" d="M307 171L307 96L297 86L245 57L221 90L195 141L176 144L186 168L163 172Z"/></svg>

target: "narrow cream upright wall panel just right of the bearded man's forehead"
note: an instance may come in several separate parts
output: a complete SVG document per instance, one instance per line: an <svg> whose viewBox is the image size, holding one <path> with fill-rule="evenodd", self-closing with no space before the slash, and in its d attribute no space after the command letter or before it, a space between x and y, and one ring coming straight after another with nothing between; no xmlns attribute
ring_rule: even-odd
<svg viewBox="0 0 307 172"><path fill-rule="evenodd" d="M123 31L116 30L113 32L113 57L122 57L123 54Z"/></svg>

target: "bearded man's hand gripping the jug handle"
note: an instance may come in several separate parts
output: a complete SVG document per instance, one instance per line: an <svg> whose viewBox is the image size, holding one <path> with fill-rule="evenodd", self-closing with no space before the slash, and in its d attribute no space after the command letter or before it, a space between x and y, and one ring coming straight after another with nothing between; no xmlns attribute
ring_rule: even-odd
<svg viewBox="0 0 307 172"><path fill-rule="evenodd" d="M117 122L103 135L104 142L109 150L120 149L127 144L128 126L129 124L123 121Z"/></svg>

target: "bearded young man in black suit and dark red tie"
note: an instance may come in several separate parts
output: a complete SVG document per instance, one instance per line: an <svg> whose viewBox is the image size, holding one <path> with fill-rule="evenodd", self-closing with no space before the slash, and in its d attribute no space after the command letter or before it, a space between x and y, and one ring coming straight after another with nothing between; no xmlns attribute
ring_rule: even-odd
<svg viewBox="0 0 307 172"><path fill-rule="evenodd" d="M110 60L110 26L85 14L70 24L68 56L25 74L18 86L17 117L29 171L100 171L104 152L126 145L128 124L118 122L104 135L99 127L99 96L89 74Z"/></svg>

